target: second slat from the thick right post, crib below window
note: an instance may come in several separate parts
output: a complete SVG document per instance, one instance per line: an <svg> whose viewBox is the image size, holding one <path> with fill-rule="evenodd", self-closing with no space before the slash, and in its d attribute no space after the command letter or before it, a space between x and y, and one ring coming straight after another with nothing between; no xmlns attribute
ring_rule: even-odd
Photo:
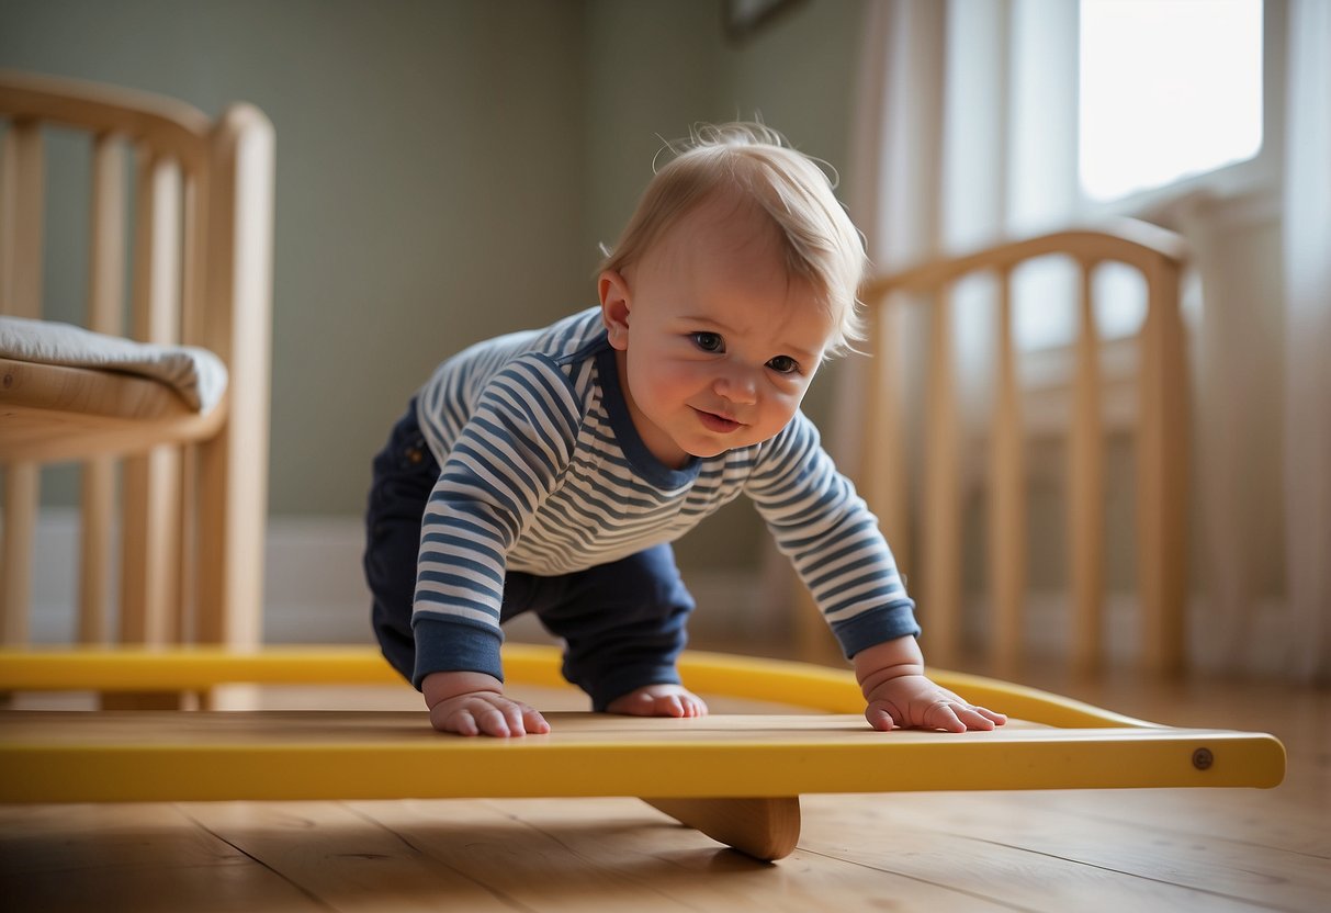
<svg viewBox="0 0 1331 913"><path fill-rule="evenodd" d="M1014 675L1022 653L1026 591L1026 472L1012 325L1012 273L998 278L997 385L989 453L990 649L1001 675Z"/></svg>

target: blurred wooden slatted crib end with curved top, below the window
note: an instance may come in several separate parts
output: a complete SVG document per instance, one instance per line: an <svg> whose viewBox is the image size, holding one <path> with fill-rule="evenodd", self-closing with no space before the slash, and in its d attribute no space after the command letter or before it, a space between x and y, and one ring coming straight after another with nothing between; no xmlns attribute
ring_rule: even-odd
<svg viewBox="0 0 1331 913"><path fill-rule="evenodd" d="M1000 675L1016 673L1024 655L1030 486L1013 331L1013 277L1024 264L1050 256L1070 260L1079 277L1070 402L1059 430L1067 454L1063 500L1070 587L1063 602L1071 619L1069 660L1083 672L1105 660L1107 385L1093 279L1103 264L1126 264L1141 273L1146 286L1145 321L1131 341L1137 347L1135 375L1130 378L1135 407L1127 429L1135 451L1137 659L1155 673L1177 673L1186 659L1189 542L1189 373L1179 309L1185 248L1177 236L1123 221L1095 230L1004 242L868 282L862 298L873 358L862 403L857 483L910 575L926 627L929 660L953 665L962 655L965 634L961 467L964 456L978 451L988 500L986 661ZM962 434L952 342L956 290L974 275L996 279L997 311L992 410L978 446L977 438ZM926 309L924 339L908 337L901 329L900 315L912 307ZM908 385L901 371L908 346L925 353L922 389ZM922 402L917 425L906 419L908 395ZM921 453L912 459L906 441L914 434Z"/></svg>

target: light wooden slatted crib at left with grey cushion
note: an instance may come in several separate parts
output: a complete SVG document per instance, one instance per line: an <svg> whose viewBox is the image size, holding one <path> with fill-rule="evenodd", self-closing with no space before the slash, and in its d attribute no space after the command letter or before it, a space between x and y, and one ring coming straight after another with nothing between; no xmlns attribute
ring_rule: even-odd
<svg viewBox="0 0 1331 913"><path fill-rule="evenodd" d="M29 639L39 468L76 460L71 639L257 643L272 124L248 104L212 120L172 98L15 72L0 72L0 639ZM91 149L89 333L43 319L52 130L73 130Z"/></svg>

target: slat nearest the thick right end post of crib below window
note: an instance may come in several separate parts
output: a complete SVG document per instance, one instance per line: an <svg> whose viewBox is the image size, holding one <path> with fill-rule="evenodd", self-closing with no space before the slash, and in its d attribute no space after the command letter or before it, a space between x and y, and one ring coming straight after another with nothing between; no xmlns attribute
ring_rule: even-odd
<svg viewBox="0 0 1331 913"><path fill-rule="evenodd" d="M1071 547L1073 667L1099 668L1103 624L1105 470L1101 415L1099 331L1093 264L1081 261L1079 331L1075 345L1071 433L1067 442L1067 531Z"/></svg>

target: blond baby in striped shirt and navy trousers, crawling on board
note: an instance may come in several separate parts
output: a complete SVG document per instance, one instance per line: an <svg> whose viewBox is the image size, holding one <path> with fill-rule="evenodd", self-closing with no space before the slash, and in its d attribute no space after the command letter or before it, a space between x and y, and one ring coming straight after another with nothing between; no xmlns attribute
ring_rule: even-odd
<svg viewBox="0 0 1331 913"><path fill-rule="evenodd" d="M387 660L437 729L550 731L504 695L500 626L535 612L592 708L701 716L669 543L747 495L837 636L876 729L1006 717L924 673L877 520L799 411L860 337L864 245L823 170L759 124L695 130L598 277L600 305L475 345L374 460L366 578Z"/></svg>

